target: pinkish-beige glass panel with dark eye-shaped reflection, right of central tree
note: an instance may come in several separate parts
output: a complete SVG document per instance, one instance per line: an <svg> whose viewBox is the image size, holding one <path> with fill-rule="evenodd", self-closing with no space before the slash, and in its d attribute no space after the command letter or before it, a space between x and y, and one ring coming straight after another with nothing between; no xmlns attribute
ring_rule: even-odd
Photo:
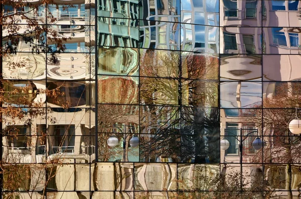
<svg viewBox="0 0 301 199"><path fill-rule="evenodd" d="M261 61L261 55L221 55L220 80L260 81Z"/></svg>

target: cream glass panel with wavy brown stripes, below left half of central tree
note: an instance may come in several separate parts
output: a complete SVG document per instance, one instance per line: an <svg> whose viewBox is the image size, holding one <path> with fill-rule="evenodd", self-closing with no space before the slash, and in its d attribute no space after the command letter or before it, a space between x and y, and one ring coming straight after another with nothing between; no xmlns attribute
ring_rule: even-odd
<svg viewBox="0 0 301 199"><path fill-rule="evenodd" d="M135 190L177 189L177 164L138 163L134 172Z"/></svg>

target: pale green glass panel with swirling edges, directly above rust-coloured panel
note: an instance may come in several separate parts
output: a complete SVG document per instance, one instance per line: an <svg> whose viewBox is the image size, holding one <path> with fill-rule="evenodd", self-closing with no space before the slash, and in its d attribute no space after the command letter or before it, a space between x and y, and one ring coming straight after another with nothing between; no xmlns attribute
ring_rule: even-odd
<svg viewBox="0 0 301 199"><path fill-rule="evenodd" d="M138 49L98 48L98 74L138 76Z"/></svg>

